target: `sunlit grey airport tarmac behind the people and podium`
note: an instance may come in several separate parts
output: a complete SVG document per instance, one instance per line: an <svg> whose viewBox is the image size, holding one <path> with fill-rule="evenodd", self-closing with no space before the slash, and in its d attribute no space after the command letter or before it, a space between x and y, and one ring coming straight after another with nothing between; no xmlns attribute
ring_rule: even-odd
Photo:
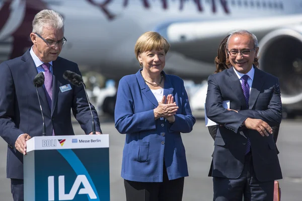
<svg viewBox="0 0 302 201"><path fill-rule="evenodd" d="M104 134L110 136L110 189L112 201L124 201L125 191L123 179L120 177L122 150L125 135L119 134L112 120L101 119ZM302 119L283 120L280 126L277 146L280 151L283 179L279 180L281 200L302 200ZM77 122L73 123L77 135L83 132ZM213 151L213 140L210 137L204 121L197 120L194 129L189 134L182 134L186 148L189 166L189 177L185 178L183 200L210 201L212 200L212 179L208 170ZM10 180L6 178L7 144L0 140L0 201L13 201ZM95 157L95 156L94 156Z"/></svg>

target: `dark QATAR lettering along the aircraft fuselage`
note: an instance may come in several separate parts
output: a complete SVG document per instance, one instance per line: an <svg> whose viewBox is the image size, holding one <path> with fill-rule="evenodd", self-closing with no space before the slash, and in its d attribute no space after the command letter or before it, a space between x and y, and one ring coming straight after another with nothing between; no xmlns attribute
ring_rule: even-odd
<svg viewBox="0 0 302 201"><path fill-rule="evenodd" d="M113 3L113 0L103 0L102 3L99 3L99 1L97 1L97 0L87 0L87 1L90 4L99 7L101 9L101 11L105 14L105 16L107 17L108 20L115 19L116 15L114 14L114 12L110 11L110 9L108 8L110 6L110 4ZM142 3L142 7L144 9L151 8L151 3L150 3L151 0L140 0L140 1ZM161 1L161 5L164 10L169 9L168 0L158 0L158 1ZM198 12L203 12L204 8L203 8L201 0L179 0L179 10L182 11L185 7L185 3L188 3L189 1L192 1L194 3ZM230 13L226 0L208 0L205 3L210 4L212 12L216 13L217 12L217 3L216 2L218 2L218 4L220 4L222 6L223 12L225 12L226 14ZM129 5L129 0L123 0L123 2L121 2L121 3L122 3L121 6L123 8L126 8Z"/></svg>

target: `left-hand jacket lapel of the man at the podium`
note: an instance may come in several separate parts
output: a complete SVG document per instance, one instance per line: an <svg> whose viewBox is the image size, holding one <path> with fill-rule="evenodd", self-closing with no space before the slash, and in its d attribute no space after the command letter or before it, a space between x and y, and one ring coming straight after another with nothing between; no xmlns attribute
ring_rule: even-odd
<svg viewBox="0 0 302 201"><path fill-rule="evenodd" d="M33 58L31 57L29 50L22 56L21 58L24 62L24 64L21 66L21 68L24 69L24 71L26 72L27 76L29 77L30 80L30 84L29 86L34 86L33 84L33 80L35 78L35 76L38 74L35 62L33 60ZM44 87L38 87L38 93L40 96L40 100L41 100L41 105L44 105L43 110L47 110L45 112L49 112L50 113L50 109L48 106L48 102L47 102L47 98L46 98L46 94L45 94L45 90Z"/></svg>

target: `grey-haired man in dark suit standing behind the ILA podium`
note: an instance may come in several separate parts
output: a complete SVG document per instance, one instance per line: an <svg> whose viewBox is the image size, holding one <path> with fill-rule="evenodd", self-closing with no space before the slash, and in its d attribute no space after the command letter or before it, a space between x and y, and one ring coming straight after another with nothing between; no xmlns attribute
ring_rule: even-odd
<svg viewBox="0 0 302 201"><path fill-rule="evenodd" d="M70 109L86 134L101 134L97 112L90 106L83 86L63 78L66 70L81 75L76 63L59 57L64 37L63 18L43 10L36 14L30 34L33 46L21 57L0 64L0 136L8 143L7 177L11 178L14 201L24 200L23 155L26 141L41 136L43 120L33 84L39 72L44 84L38 87L45 120L46 136L74 135Z"/></svg>

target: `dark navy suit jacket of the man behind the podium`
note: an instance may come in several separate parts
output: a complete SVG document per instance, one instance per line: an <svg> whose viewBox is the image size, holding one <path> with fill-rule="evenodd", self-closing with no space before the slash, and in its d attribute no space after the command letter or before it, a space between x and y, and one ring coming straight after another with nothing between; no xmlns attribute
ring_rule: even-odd
<svg viewBox="0 0 302 201"><path fill-rule="evenodd" d="M45 118L46 135L74 135L70 109L86 134L92 131L92 117L83 87L71 85L61 92L59 86L69 82L63 78L65 70L80 74L76 63L58 57L53 61L52 108L47 103L45 90L38 88ZM7 177L23 179L23 155L16 151L20 134L31 137L42 135L42 117L33 79L37 75L29 50L21 57L0 64L0 136L8 143ZM100 130L94 108L96 130Z"/></svg>

